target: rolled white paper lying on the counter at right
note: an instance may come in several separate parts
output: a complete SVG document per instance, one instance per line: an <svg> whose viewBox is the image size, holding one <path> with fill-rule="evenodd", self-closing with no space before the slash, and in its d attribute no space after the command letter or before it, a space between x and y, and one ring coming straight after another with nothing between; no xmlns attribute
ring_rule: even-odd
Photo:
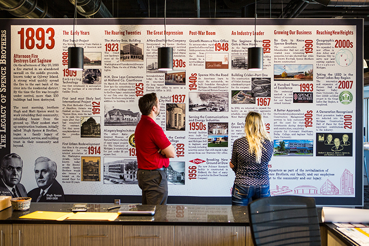
<svg viewBox="0 0 369 246"><path fill-rule="evenodd" d="M323 207L323 222L369 223L369 210Z"/></svg>

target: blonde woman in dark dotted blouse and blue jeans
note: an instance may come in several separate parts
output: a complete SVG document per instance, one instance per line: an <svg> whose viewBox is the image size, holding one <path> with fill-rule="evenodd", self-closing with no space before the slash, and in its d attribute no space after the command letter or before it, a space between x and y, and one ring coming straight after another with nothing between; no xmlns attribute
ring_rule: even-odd
<svg viewBox="0 0 369 246"><path fill-rule="evenodd" d="M268 163L273 143L259 113L248 112L245 137L233 143L229 166L236 174L232 189L232 205L247 206L250 198L270 196Z"/></svg>

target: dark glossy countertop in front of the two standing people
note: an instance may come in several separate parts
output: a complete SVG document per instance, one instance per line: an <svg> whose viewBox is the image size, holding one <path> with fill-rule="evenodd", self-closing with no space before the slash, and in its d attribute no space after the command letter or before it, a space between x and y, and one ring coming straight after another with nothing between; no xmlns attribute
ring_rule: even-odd
<svg viewBox="0 0 369 246"><path fill-rule="evenodd" d="M160 225L160 226L250 226L247 207L244 206L214 206L214 205L158 205L157 213L154 216L119 216L114 221L108 220L47 220L47 219L22 219L19 216L29 214L35 211L53 211L53 212L69 212L72 204L71 203L59 203L59 204L48 204L39 203L31 204L31 208L27 212L13 211L11 208L5 209L0 212L0 223L1 224L97 224L97 225ZM96 209L103 210L109 207L113 207L112 204L89 204L89 212L94 212ZM196 211L196 207L200 207L201 210L206 208L213 209L211 215L215 217L202 217L196 220L196 217L185 217L173 219L172 217L167 218L167 209L176 209L177 206L184 206L184 209L192 209ZM217 219L217 213L214 208L221 208L224 213L224 209L229 210L228 215L232 213L233 219L229 221L227 218ZM95 210L94 210L95 209ZM106 210L104 210L106 211ZM113 210L112 210L113 212ZM199 211L200 213L201 211ZM220 212L220 211L219 211ZM227 215L226 213L226 215ZM173 212L172 212L173 214ZM192 213L191 213L192 214ZM317 214L319 217L320 226L324 226L321 221L321 208L317 208ZM222 214L220 214L222 215ZM224 214L223 214L224 215ZM195 218L195 219L194 219Z"/></svg>

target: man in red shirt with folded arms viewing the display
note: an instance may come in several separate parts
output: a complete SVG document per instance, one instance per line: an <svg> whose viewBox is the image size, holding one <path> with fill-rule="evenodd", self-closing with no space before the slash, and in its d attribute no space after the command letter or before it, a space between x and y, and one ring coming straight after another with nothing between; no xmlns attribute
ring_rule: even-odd
<svg viewBox="0 0 369 246"><path fill-rule="evenodd" d="M163 129L155 123L160 113L156 94L143 95L138 100L142 113L136 126L134 142L137 153L137 179L142 189L142 204L165 205L168 198L168 180L165 172L169 158L175 154L174 146L165 136Z"/></svg>

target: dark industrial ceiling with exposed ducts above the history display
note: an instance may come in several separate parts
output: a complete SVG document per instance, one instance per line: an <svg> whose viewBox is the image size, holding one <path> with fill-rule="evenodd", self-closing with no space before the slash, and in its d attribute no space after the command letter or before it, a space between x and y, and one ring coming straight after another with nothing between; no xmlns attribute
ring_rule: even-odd
<svg viewBox="0 0 369 246"><path fill-rule="evenodd" d="M164 2L77 0L77 18L162 18ZM73 18L74 3L74 0L0 0L0 17ZM364 57L369 62L369 0L257 0L256 7L257 18L364 19ZM255 0L166 0L167 18L254 18L254 12Z"/></svg>

